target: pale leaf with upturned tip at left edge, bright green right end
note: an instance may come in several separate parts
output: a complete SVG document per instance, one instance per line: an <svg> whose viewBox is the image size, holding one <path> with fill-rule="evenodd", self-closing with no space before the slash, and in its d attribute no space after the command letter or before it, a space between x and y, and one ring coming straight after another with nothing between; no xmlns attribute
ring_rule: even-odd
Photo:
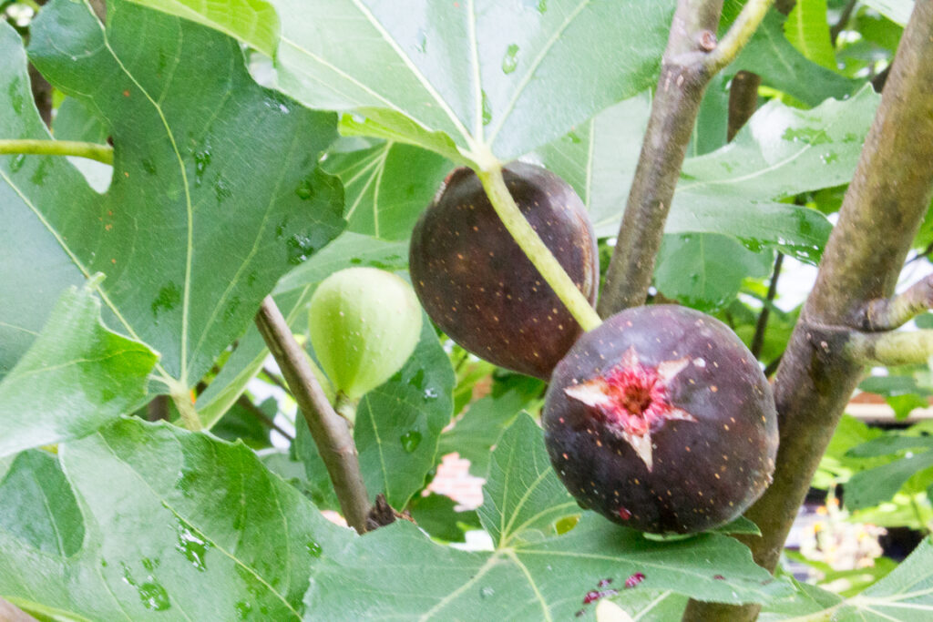
<svg viewBox="0 0 933 622"><path fill-rule="evenodd" d="M0 456L91 434L146 396L156 353L107 330L91 288L62 295L45 329L0 381Z"/></svg>

